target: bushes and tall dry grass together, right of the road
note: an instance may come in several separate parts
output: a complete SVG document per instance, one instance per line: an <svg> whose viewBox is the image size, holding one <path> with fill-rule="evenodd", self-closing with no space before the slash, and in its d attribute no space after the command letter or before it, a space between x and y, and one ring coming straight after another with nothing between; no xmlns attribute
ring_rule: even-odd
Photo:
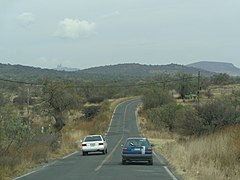
<svg viewBox="0 0 240 180"><path fill-rule="evenodd" d="M202 93L195 103L173 100L168 91L143 98L142 132L184 179L240 177L240 91L229 88L218 86L219 96L214 86L216 94Z"/></svg>

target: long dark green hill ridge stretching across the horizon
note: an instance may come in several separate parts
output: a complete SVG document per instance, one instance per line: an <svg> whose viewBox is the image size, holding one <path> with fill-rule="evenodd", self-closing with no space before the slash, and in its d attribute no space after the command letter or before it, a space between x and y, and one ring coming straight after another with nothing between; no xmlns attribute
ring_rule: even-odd
<svg viewBox="0 0 240 180"><path fill-rule="evenodd" d="M21 81L36 81L43 78L54 80L106 80L106 79L119 79L119 78L147 78L156 76L158 74L176 74L186 73L197 75L198 71L201 71L202 75L209 76L212 73L200 70L194 67L187 67L178 64L169 65L142 65L136 63L129 64L117 64L93 67L89 69L83 69L73 72L58 71L54 69L41 69L23 65L11 65L0 63L0 78L9 80L21 80Z"/></svg>

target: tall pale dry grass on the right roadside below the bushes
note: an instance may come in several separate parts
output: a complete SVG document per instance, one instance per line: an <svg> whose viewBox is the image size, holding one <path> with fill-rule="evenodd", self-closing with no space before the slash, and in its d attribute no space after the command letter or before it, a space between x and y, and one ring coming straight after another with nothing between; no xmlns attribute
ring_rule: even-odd
<svg viewBox="0 0 240 180"><path fill-rule="evenodd" d="M186 180L240 179L240 125L192 139L171 138L164 131L144 133Z"/></svg>

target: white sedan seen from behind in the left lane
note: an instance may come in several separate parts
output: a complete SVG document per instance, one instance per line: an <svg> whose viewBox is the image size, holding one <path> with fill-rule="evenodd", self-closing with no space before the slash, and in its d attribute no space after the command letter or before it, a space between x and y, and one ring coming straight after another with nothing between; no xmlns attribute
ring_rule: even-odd
<svg viewBox="0 0 240 180"><path fill-rule="evenodd" d="M85 156L89 152L107 153L107 142L102 135L88 135L82 141L82 155Z"/></svg>

